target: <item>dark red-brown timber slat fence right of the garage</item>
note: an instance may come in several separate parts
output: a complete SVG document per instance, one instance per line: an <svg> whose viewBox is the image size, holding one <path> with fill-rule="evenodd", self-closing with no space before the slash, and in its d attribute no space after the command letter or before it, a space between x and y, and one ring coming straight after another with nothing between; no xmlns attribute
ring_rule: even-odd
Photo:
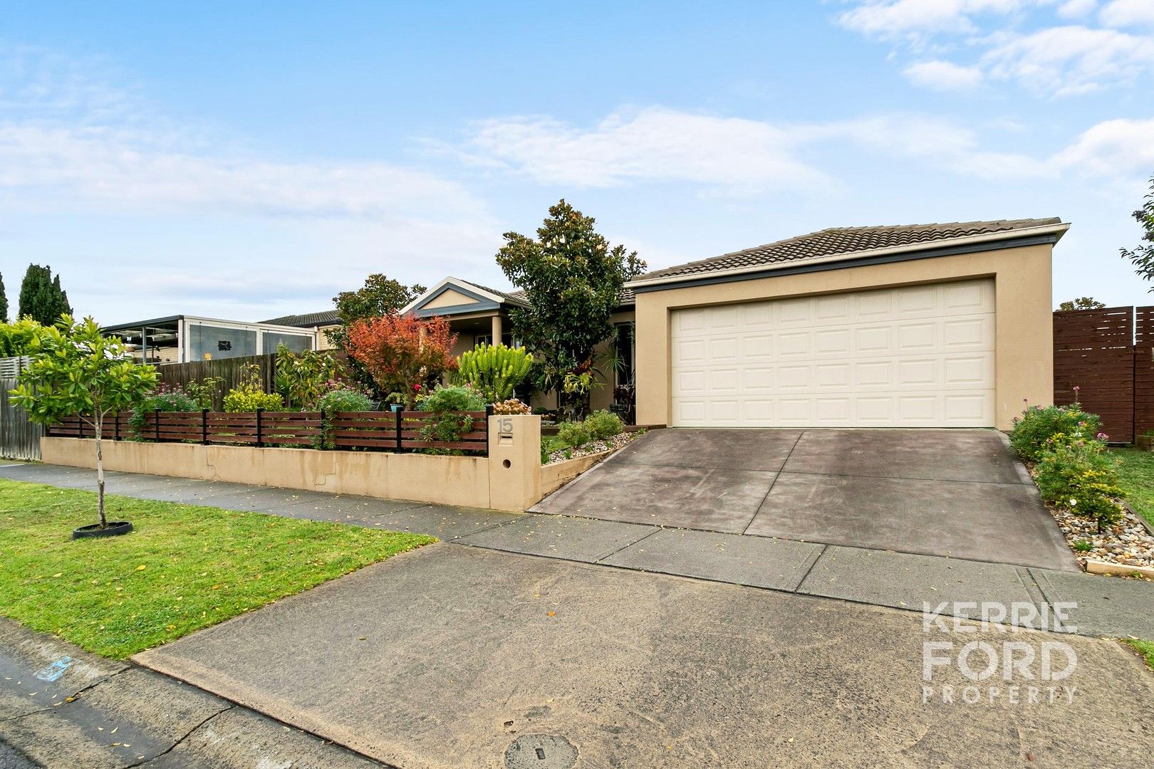
<svg viewBox="0 0 1154 769"><path fill-rule="evenodd" d="M1054 402L1102 417L1111 442L1154 430L1154 307L1054 314Z"/></svg>

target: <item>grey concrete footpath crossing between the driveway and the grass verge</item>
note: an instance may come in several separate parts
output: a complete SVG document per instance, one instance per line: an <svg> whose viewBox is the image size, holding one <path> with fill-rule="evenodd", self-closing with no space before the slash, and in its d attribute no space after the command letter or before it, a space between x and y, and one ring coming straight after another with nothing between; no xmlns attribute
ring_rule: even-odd
<svg viewBox="0 0 1154 769"><path fill-rule="evenodd" d="M8 465L0 477L90 489L92 470ZM662 528L591 518L501 513L426 503L337 496L156 475L107 474L107 490L225 510L430 534L455 545L560 558L839 598L909 611L946 603L1033 604L1044 616L1074 603L1070 625L1084 635L1154 639L1154 583L1080 572L923 556L890 550ZM1024 617L1024 625L1035 623Z"/></svg>

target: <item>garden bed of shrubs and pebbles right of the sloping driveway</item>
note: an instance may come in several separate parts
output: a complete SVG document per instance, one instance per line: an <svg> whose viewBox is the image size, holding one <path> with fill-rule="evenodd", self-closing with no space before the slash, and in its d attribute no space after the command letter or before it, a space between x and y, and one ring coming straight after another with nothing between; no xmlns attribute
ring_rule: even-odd
<svg viewBox="0 0 1154 769"><path fill-rule="evenodd" d="M1154 462L1110 451L1108 439L1099 417L1077 402L1029 406L1010 432L1084 568L1154 568L1154 530L1124 504L1130 498L1149 514Z"/></svg>

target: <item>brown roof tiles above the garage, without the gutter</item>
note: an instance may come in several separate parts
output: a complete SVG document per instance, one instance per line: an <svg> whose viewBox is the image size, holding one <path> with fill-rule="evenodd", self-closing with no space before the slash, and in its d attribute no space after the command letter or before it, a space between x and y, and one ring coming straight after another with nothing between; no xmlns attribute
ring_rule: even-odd
<svg viewBox="0 0 1154 769"><path fill-rule="evenodd" d="M1062 220L1050 219L998 219L995 221L952 221L930 225L896 225L881 227L831 227L808 235L799 235L774 243L747 248L742 251L722 254L699 262L689 262L662 270L654 270L637 278L672 278L700 276L724 270L757 267L782 262L797 262L835 254L853 254L882 248L897 248L916 243L953 240L971 235L1012 232L1029 227L1056 225Z"/></svg>

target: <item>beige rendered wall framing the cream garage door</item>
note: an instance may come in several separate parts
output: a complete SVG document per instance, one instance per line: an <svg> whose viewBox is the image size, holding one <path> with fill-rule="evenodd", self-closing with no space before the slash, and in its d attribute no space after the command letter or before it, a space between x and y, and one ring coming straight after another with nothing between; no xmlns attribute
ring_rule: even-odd
<svg viewBox="0 0 1154 769"><path fill-rule="evenodd" d="M992 277L995 414L1007 430L1022 401L1054 400L1050 244L892 264L756 278L637 294L637 423L669 424L672 310L835 292Z"/></svg>

